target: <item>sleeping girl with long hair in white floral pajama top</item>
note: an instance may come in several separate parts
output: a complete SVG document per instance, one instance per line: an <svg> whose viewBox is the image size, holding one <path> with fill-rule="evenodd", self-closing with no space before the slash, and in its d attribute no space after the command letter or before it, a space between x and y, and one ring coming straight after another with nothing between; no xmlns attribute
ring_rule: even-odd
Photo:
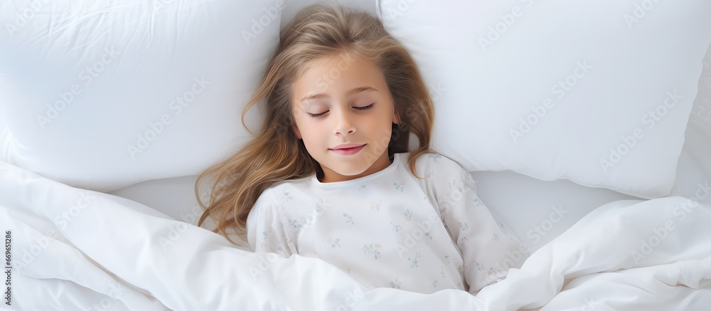
<svg viewBox="0 0 711 311"><path fill-rule="evenodd" d="M523 264L471 174L429 149L432 99L375 16L315 4L280 37L242 112L244 125L264 98L264 127L198 177L196 194L214 177L198 226L210 217L252 251L321 258L368 288L476 295Z"/></svg>

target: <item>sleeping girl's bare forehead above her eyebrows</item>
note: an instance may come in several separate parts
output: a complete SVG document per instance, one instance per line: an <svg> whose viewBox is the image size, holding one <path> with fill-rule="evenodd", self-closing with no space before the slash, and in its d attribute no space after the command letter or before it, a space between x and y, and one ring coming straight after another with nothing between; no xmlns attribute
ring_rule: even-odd
<svg viewBox="0 0 711 311"><path fill-rule="evenodd" d="M361 58L326 58L309 65L294 81L292 102L316 94L341 97L362 86L385 90L383 73L375 64Z"/></svg>

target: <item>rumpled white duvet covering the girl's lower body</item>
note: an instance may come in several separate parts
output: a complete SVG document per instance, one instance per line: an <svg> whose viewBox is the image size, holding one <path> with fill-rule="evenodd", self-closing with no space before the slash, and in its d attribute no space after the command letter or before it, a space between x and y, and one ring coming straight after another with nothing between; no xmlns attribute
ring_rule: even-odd
<svg viewBox="0 0 711 311"><path fill-rule="evenodd" d="M11 231L12 259L2 307L17 310L711 308L711 208L682 197L600 206L476 297L365 291L319 259L242 251L137 202L2 162L0 230Z"/></svg>

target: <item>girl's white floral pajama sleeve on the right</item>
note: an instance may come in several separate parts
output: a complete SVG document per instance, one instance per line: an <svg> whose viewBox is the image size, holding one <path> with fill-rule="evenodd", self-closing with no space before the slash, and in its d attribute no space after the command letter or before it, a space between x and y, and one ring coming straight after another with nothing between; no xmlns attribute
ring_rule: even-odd
<svg viewBox="0 0 711 311"><path fill-rule="evenodd" d="M434 179L437 205L452 241L464 259L464 280L476 295L486 285L506 278L510 268L520 268L528 249L503 221L476 196L474 178L458 163L444 158Z"/></svg>

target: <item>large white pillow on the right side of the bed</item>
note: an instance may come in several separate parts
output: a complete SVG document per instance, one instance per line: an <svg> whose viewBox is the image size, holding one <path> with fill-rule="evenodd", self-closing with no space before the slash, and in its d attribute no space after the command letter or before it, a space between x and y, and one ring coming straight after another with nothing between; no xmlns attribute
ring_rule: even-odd
<svg viewBox="0 0 711 311"><path fill-rule="evenodd" d="M670 194L711 1L455 2L378 4L432 87L433 149L468 171Z"/></svg>

